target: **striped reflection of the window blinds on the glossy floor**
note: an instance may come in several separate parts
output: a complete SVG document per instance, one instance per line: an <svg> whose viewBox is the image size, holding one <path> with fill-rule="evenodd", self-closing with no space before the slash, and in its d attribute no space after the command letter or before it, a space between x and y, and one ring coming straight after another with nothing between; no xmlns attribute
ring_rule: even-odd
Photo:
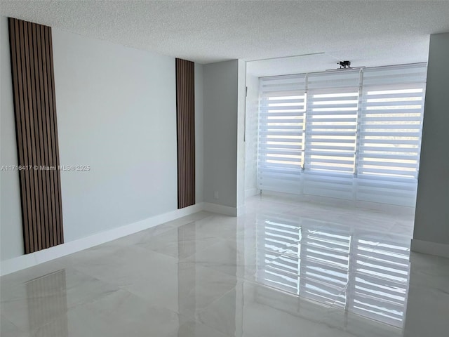
<svg viewBox="0 0 449 337"><path fill-rule="evenodd" d="M408 246L320 220L257 220L257 282L403 327Z"/></svg>

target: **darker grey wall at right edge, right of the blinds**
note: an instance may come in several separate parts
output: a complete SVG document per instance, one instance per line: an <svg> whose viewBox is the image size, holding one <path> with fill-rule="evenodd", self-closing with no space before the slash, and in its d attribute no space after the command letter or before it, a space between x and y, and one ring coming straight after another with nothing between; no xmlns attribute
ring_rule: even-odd
<svg viewBox="0 0 449 337"><path fill-rule="evenodd" d="M430 37L413 239L449 244L449 33Z"/></svg>

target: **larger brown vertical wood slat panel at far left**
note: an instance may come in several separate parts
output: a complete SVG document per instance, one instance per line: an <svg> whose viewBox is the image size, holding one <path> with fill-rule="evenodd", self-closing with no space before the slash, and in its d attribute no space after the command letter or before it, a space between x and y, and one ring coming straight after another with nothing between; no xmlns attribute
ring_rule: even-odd
<svg viewBox="0 0 449 337"><path fill-rule="evenodd" d="M64 242L53 46L51 27L8 23L23 237L32 253Z"/></svg>

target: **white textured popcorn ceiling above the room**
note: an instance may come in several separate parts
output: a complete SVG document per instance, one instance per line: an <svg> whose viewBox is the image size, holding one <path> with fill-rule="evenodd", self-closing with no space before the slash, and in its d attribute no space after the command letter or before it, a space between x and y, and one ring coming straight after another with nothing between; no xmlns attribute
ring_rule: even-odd
<svg viewBox="0 0 449 337"><path fill-rule="evenodd" d="M1 15L200 63L259 60L253 74L310 72L338 60L427 60L449 32L449 1L8 1Z"/></svg>

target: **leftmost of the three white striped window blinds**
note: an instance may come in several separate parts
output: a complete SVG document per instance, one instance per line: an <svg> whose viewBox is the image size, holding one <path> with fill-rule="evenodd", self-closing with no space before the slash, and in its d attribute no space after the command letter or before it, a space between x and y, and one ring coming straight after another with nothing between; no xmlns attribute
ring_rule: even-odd
<svg viewBox="0 0 449 337"><path fill-rule="evenodd" d="M260 81L257 180L263 190L300 189L304 160L305 76Z"/></svg>

